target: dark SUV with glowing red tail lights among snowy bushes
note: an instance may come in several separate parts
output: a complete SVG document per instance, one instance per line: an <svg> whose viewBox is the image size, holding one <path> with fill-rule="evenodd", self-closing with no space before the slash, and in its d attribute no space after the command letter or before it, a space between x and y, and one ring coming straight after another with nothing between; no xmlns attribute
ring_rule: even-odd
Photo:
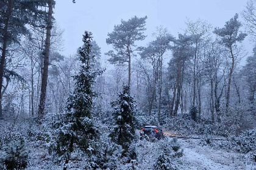
<svg viewBox="0 0 256 170"><path fill-rule="evenodd" d="M141 131L141 135L147 135L151 140L163 138L163 131L157 126L144 126Z"/></svg>

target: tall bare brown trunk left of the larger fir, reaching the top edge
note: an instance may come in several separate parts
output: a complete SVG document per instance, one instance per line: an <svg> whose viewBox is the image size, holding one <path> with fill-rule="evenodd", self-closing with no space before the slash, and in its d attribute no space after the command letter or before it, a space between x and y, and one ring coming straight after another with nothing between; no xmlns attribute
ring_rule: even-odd
<svg viewBox="0 0 256 170"><path fill-rule="evenodd" d="M41 120L44 115L44 107L46 100L46 87L48 80L48 66L49 66L49 53L50 53L50 38L51 38L51 29L52 29L52 5L53 0L48 1L49 11L48 11L48 20L46 27L46 41L45 41L45 53L44 53L44 63L43 63L43 75L41 79L41 94L40 94L40 103L39 103L39 112L38 118Z"/></svg>

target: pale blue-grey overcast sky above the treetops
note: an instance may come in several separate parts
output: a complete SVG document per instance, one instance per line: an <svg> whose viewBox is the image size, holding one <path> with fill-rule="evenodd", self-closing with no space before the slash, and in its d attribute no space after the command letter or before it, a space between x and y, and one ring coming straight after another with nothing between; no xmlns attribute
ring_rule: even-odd
<svg viewBox="0 0 256 170"><path fill-rule="evenodd" d="M193 21L201 18L213 27L223 27L235 13L241 13L245 5L246 0L76 0L76 4L72 0L56 0L54 18L65 30L63 55L76 53L76 49L82 46L85 30L93 33L104 55L112 49L105 43L107 33L112 32L114 25L120 24L121 19L127 20L135 15L148 16L146 45L157 26L167 27L174 36L183 32L186 18ZM239 19L243 20L241 15ZM249 41L246 44L246 50L251 52Z"/></svg>

